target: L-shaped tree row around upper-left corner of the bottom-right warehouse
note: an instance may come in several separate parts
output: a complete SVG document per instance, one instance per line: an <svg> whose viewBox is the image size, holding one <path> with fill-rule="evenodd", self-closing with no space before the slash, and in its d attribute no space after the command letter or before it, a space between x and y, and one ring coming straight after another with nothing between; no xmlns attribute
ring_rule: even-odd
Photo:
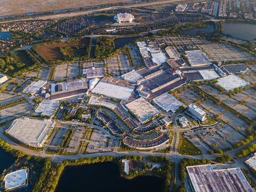
<svg viewBox="0 0 256 192"><path fill-rule="evenodd" d="M179 177L181 181L185 181L187 177L186 173L186 166L191 165L204 165L211 163L210 159L190 159L190 158L183 158L179 163Z"/></svg>

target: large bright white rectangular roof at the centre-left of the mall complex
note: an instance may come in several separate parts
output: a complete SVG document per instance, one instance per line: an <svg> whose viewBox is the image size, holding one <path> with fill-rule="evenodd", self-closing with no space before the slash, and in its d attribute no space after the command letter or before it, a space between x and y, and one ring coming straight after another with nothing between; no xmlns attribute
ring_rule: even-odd
<svg viewBox="0 0 256 192"><path fill-rule="evenodd" d="M131 86L119 85L106 81L100 81L92 90L93 93L99 93L111 98L127 100L131 96L134 88Z"/></svg>

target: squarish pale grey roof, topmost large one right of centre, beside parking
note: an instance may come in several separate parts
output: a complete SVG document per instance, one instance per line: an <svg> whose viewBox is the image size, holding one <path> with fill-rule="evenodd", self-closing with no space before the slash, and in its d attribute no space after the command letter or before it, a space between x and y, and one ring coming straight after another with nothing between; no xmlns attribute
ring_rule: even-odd
<svg viewBox="0 0 256 192"><path fill-rule="evenodd" d="M211 65L212 62L206 57L201 50L185 51L191 66Z"/></svg>

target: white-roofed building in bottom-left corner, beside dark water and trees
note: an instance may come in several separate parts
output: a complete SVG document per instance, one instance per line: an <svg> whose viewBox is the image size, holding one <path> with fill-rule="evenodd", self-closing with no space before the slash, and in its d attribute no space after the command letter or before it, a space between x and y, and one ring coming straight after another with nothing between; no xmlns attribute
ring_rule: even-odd
<svg viewBox="0 0 256 192"><path fill-rule="evenodd" d="M27 169L14 171L4 177L4 189L14 189L25 186L28 179Z"/></svg>

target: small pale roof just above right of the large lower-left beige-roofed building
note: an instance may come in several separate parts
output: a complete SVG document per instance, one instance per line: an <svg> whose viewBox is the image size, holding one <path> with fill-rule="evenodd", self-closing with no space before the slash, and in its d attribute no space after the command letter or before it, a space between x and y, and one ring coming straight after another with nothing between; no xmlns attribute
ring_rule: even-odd
<svg viewBox="0 0 256 192"><path fill-rule="evenodd" d="M40 105L36 108L36 113L41 113L42 115L52 116L55 110L59 106L59 101L54 100L43 100Z"/></svg>

